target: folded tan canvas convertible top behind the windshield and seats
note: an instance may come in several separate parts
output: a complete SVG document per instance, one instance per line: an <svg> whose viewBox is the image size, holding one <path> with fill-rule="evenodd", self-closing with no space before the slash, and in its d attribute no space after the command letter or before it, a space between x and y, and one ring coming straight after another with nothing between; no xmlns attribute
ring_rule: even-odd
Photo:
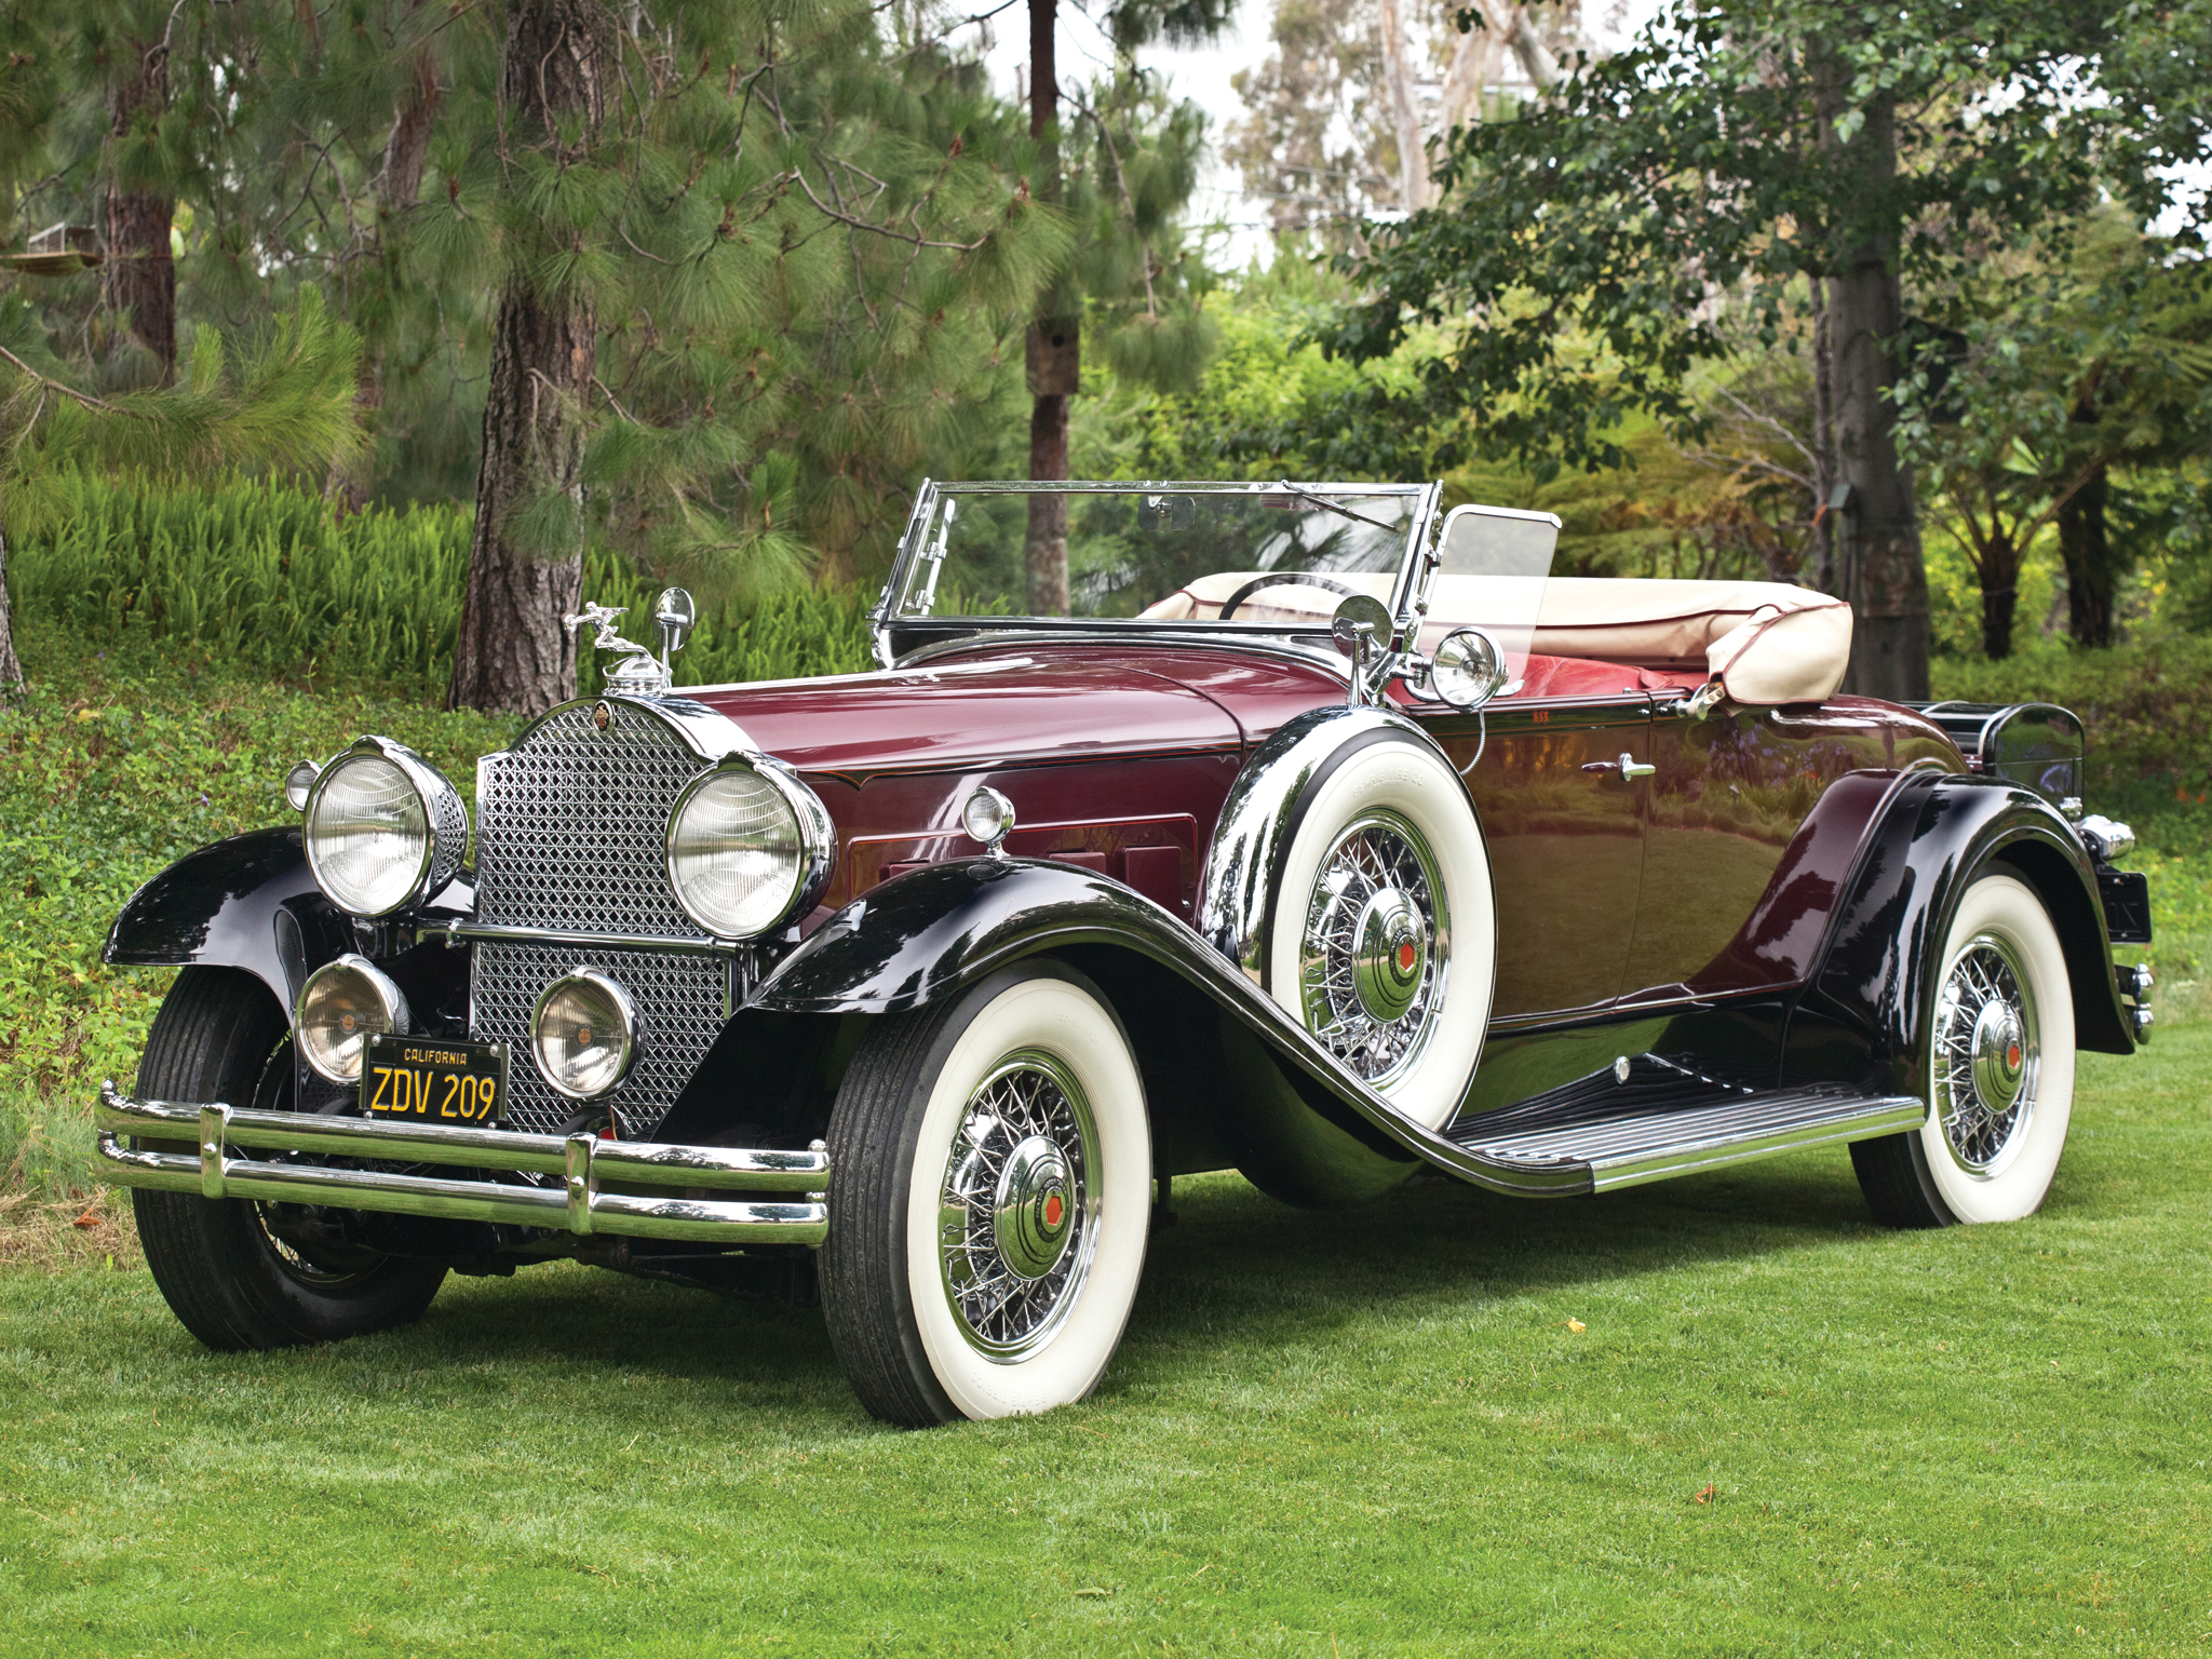
<svg viewBox="0 0 2212 1659"><path fill-rule="evenodd" d="M1259 571L1219 571L1146 611L1164 622L1212 619ZM1332 575L1389 602L1389 575ZM1285 582L1261 588L1239 622L1323 622L1343 595ZM1453 628L1526 628L1522 577L1440 575L1420 630L1425 650ZM1517 644L1517 641L1513 641ZM1809 703L1832 697L1851 659L1851 606L1787 582L1663 582L1646 577L1553 577L1528 650L1632 668L1717 675L1739 703Z"/></svg>

